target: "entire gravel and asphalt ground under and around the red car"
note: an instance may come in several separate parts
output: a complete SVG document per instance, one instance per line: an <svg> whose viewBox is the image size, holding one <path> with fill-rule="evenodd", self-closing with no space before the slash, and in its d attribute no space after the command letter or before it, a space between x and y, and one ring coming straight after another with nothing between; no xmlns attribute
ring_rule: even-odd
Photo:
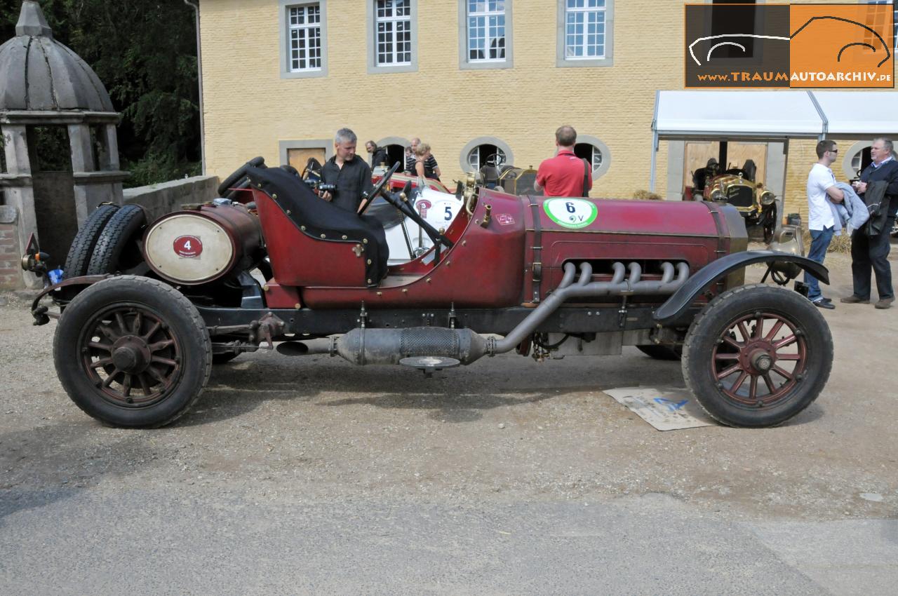
<svg viewBox="0 0 898 596"><path fill-rule="evenodd" d="M123 431L10 302L0 594L893 594L898 309L824 316L831 379L773 429L657 432L602 390L679 364L626 349L431 380L242 355L177 425Z"/></svg>

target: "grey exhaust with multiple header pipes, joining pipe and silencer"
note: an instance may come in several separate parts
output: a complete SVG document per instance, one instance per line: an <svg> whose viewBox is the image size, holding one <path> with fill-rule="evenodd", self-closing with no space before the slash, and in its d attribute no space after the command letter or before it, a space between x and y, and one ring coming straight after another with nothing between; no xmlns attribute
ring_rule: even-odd
<svg viewBox="0 0 898 596"><path fill-rule="evenodd" d="M629 270L629 276L627 271ZM662 276L656 281L641 281L642 267L638 263L612 265L612 279L592 282L593 267L589 263L577 266L568 263L564 267L561 283L545 301L533 309L515 329L503 337L483 337L471 329L445 329L439 327L412 327L408 329L353 329L346 335L330 338L330 355L339 355L353 364L400 364L409 356L445 356L462 364L471 364L484 355L494 356L509 352L537 329L561 304L573 298L602 298L630 294L669 295L686 283L689 265L665 262ZM674 277L674 271L676 276ZM624 277L627 276L626 279ZM577 277L577 282L574 278Z"/></svg>

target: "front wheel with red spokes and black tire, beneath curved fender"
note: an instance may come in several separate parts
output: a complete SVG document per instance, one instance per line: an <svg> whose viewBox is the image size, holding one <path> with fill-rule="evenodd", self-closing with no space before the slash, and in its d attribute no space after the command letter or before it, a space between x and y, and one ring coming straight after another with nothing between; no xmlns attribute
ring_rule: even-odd
<svg viewBox="0 0 898 596"><path fill-rule="evenodd" d="M718 295L683 344L686 385L709 416L730 426L786 422L820 395L831 369L823 315L804 296L772 285Z"/></svg>

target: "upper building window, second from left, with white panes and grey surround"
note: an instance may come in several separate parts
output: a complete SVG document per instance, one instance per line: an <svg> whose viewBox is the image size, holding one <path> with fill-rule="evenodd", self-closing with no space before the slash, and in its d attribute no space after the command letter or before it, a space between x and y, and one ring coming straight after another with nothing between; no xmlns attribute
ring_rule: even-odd
<svg viewBox="0 0 898 596"><path fill-rule="evenodd" d="M368 74L418 70L418 0L367 0Z"/></svg>

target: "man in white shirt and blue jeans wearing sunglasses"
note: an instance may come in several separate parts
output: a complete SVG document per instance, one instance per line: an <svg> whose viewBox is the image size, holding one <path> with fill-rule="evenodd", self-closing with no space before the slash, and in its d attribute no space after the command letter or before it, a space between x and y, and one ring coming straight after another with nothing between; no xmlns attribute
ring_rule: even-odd
<svg viewBox="0 0 898 596"><path fill-rule="evenodd" d="M817 144L817 162L807 176L807 229L811 232L811 249L807 258L823 264L826 249L832 241L835 230L835 213L829 201L841 203L845 193L836 187L836 177L832 175L830 166L839 156L834 141L821 141ZM835 305L829 298L823 298L817 278L805 272L807 298L822 309L832 310Z"/></svg>

